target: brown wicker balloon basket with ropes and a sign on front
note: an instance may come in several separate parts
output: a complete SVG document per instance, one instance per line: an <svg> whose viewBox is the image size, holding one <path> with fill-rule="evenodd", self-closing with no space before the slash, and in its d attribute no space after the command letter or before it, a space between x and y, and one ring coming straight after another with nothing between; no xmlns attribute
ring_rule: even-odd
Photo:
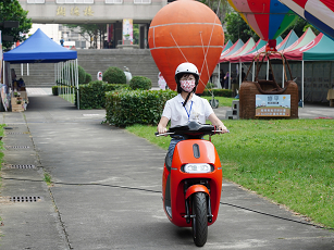
<svg viewBox="0 0 334 250"><path fill-rule="evenodd" d="M269 61L270 70L272 70L270 57L274 55L282 59L285 79L284 88L280 87L274 78L259 79L259 72L263 65L263 61ZM279 57L277 57L279 55ZM261 58L261 61L259 60ZM243 82L239 88L239 117L240 118L298 118L298 86L293 80L292 71L286 58L274 51L267 51L258 54L256 61L256 76L253 82ZM253 63L250 64L251 66ZM248 70L247 75L250 72ZM287 79L286 68L289 72L290 79Z"/></svg>

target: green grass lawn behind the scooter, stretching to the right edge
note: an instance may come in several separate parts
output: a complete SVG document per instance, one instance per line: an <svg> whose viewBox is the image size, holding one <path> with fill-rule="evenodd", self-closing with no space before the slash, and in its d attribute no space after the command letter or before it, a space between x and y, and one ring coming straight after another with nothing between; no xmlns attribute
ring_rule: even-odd
<svg viewBox="0 0 334 250"><path fill-rule="evenodd" d="M334 121L226 120L213 136L224 178L334 228ZM154 126L126 128L168 149Z"/></svg>

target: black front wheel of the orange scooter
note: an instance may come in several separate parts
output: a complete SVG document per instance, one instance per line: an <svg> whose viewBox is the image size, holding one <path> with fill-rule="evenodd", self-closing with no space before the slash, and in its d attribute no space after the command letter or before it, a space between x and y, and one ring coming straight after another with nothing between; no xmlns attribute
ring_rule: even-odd
<svg viewBox="0 0 334 250"><path fill-rule="evenodd" d="M195 192L193 196L193 238L197 247L202 247L208 237L207 198L203 192Z"/></svg>

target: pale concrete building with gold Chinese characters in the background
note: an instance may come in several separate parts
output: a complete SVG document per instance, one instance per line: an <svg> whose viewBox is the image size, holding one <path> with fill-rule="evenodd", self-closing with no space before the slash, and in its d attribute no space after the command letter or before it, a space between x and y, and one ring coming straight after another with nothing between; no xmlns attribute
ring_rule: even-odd
<svg viewBox="0 0 334 250"><path fill-rule="evenodd" d="M103 24L109 47L133 45L133 25L139 25L138 48L147 48L150 22L168 0L18 0L28 11L28 18L37 24ZM70 32L60 25L60 36L69 37ZM84 40L76 38L67 40ZM51 37L51 36L50 36ZM59 40L54 37L54 40ZM65 39L66 40L66 39ZM101 47L101 46L100 46Z"/></svg>

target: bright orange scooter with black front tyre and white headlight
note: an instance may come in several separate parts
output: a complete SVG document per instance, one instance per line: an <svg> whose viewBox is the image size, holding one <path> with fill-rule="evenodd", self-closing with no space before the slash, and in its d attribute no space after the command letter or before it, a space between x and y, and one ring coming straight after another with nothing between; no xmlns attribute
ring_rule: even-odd
<svg viewBox="0 0 334 250"><path fill-rule="evenodd" d="M162 175L163 209L169 220L180 227L193 227L194 242L202 247L207 242L208 226L218 217L222 167L219 155L206 135L217 134L212 125L189 122L185 126L171 127L165 134L182 136L185 140L175 146L173 160L165 158Z"/></svg>

